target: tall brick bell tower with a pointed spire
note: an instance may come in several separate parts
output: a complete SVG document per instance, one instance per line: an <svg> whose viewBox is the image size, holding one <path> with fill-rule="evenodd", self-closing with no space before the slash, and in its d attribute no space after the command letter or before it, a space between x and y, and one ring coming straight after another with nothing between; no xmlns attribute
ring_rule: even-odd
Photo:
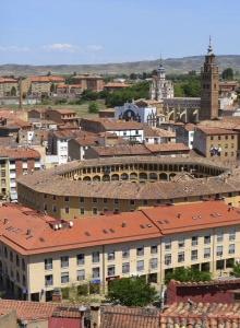
<svg viewBox="0 0 240 328"><path fill-rule="evenodd" d="M211 37L205 62L201 68L201 107L199 117L200 120L218 117L218 67L215 63Z"/></svg>

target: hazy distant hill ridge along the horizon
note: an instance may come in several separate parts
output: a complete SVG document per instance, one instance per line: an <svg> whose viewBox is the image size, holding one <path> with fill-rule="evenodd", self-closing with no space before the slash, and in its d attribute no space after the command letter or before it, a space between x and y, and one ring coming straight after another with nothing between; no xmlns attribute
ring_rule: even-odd
<svg viewBox="0 0 240 328"><path fill-rule="evenodd" d="M183 57L183 58L168 58L163 60L163 66L166 73L188 73L195 70L200 72L204 62L204 56ZM220 55L216 56L216 63L221 72L226 68L240 71L240 55ZM106 63L106 65L51 65L51 66L31 66L31 65L2 65L0 66L0 77L31 77L45 75L50 72L52 75L69 75L73 72L95 72L98 74L130 74L152 72L159 66L158 60L145 60L136 62L122 63Z"/></svg>

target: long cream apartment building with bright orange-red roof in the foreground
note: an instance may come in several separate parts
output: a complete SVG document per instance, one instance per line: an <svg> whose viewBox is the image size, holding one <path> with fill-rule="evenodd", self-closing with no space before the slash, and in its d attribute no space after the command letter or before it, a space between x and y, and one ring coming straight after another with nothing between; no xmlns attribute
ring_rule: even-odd
<svg viewBox="0 0 240 328"><path fill-rule="evenodd" d="M240 258L240 213L224 201L69 222L7 203L0 218L0 282L22 300L49 301L55 288L106 293L121 277L160 288L180 266L224 277Z"/></svg>

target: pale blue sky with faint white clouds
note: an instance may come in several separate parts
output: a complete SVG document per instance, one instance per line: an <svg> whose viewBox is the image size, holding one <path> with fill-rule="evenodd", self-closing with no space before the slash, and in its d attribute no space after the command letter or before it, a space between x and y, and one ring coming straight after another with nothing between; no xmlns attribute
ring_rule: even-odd
<svg viewBox="0 0 240 328"><path fill-rule="evenodd" d="M0 0L0 65L239 55L239 0Z"/></svg>

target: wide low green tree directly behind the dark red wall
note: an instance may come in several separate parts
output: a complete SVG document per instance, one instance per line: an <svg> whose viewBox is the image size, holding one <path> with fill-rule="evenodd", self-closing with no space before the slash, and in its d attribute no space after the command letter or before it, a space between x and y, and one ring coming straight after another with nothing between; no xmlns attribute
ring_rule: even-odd
<svg viewBox="0 0 240 328"><path fill-rule="evenodd" d="M165 283L168 284L171 279L181 282L199 282L199 281L211 281L212 274L209 271L200 271L191 267L184 268L179 267L173 269L172 272L168 272L165 277Z"/></svg>

